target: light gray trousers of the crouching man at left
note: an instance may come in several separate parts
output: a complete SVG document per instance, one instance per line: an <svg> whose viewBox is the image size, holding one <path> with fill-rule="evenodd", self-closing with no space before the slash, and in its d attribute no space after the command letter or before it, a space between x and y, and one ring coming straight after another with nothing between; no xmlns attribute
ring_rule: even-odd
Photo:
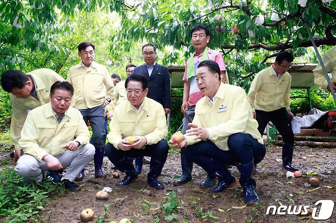
<svg viewBox="0 0 336 223"><path fill-rule="evenodd" d="M94 146L92 144L85 144L81 148L65 152L55 156L62 164L63 168L68 168L63 175L69 181L74 182L76 176L89 164L94 155ZM38 161L34 156L23 154L15 166L15 172L20 177L25 179L36 180L42 182L43 174L48 170L46 162Z"/></svg>

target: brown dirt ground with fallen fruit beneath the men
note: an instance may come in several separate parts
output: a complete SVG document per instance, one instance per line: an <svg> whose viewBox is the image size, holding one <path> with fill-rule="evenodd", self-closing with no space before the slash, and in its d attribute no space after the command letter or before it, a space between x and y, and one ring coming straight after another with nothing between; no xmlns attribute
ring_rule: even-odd
<svg viewBox="0 0 336 223"><path fill-rule="evenodd" d="M306 157L306 161L302 159ZM173 181L181 174L179 154L171 154L167 158L159 180L164 183L164 190L155 190L147 183L149 165L144 165L142 174L127 186L117 187L120 179L112 177L111 162L104 158L103 169L109 172L106 179L93 178L93 162L86 168L85 179L80 183L81 191L65 191L64 194L53 197L43 210L42 222L80 222L80 212L85 208L94 211L97 221L104 215L104 204L109 204L107 218L119 221L128 218L132 222L169 222L164 217L163 206L167 203L168 193L176 191L174 199L178 208L174 213L178 216L173 222L319 222L309 218L309 215L266 215L270 205L310 205L315 207L319 200L336 201L336 149L296 147L293 163L299 166L300 178L286 178L286 172L281 168L281 148L267 147L266 157L258 164L254 179L257 182L257 192L260 201L254 205L245 206L242 197L242 187L226 189L213 194L199 187L206 173L194 164L193 181L182 186L173 186ZM230 171L239 179L235 167ZM321 181L317 189L308 185L310 175L315 175ZM307 175L308 174L308 175ZM121 174L121 179L124 177ZM89 179L97 180L91 182ZM103 187L111 187L107 201L95 200L95 193ZM143 189L147 189L142 191ZM312 190L315 189L315 190ZM150 191L148 191L150 190ZM317 206L318 211L321 206ZM336 222L336 207L332 216L325 221ZM176 215L174 215L176 217ZM304 217L303 219L299 219Z"/></svg>

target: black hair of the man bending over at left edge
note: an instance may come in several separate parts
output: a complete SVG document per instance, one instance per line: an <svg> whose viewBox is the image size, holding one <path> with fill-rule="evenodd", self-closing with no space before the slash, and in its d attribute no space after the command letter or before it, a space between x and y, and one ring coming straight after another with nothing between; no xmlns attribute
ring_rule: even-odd
<svg viewBox="0 0 336 223"><path fill-rule="evenodd" d="M28 75L19 70L6 70L1 75L1 86L7 92L11 92L13 88L22 89L27 81L29 81Z"/></svg>

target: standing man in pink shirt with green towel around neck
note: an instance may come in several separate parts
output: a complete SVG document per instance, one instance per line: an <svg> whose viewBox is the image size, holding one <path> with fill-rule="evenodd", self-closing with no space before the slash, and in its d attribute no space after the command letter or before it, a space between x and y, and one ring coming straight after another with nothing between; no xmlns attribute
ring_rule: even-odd
<svg viewBox="0 0 336 223"><path fill-rule="evenodd" d="M207 47L210 41L209 30L203 24L198 24L193 27L190 31L191 43L195 48L195 52L190 56L185 65L185 71L183 75L183 101L181 106L183 119L183 129L184 134L186 130L190 127L188 123L193 122L195 116L195 106L196 103L204 96L203 93L197 86L196 81L196 68L204 60L212 60L216 62L221 69L221 80L223 83L229 83L229 78L225 69L225 62L222 54L217 51ZM182 166L182 176L180 179L174 181L175 186L191 181L191 172L193 171L193 163L188 162L186 157L181 153L181 166ZM206 179L200 183L200 187L211 187L215 183L215 179L208 175Z"/></svg>

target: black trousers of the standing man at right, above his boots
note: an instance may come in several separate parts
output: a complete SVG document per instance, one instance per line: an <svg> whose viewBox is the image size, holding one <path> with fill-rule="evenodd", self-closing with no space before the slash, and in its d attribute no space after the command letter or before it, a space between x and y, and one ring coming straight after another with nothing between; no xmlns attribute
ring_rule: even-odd
<svg viewBox="0 0 336 223"><path fill-rule="evenodd" d="M283 143L294 144L292 122L285 107L274 111L255 110L258 131L262 135L266 125L271 121L282 135Z"/></svg>

